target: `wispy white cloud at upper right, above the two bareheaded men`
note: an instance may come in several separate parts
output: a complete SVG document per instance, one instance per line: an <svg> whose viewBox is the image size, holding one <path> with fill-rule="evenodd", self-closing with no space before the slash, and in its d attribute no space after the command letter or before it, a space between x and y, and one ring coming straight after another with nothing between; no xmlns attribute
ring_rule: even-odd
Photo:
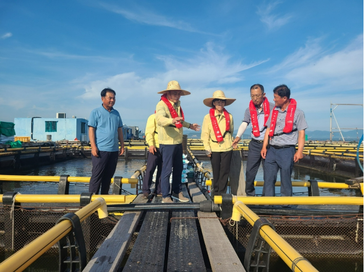
<svg viewBox="0 0 364 272"><path fill-rule="evenodd" d="M344 49L328 53L320 39L309 41L304 48L287 56L271 72L299 87L322 86L331 92L363 88L363 35Z"/></svg>

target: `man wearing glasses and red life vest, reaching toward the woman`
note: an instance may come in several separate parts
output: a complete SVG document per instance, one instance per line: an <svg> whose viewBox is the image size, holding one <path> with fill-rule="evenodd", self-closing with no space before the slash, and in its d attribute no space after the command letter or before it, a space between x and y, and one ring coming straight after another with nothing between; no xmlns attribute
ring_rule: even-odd
<svg viewBox="0 0 364 272"><path fill-rule="evenodd" d="M233 147L237 148L237 143L240 141L242 134L247 129L248 124L251 123L252 140L249 143L245 193L247 196L255 196L254 180L256 173L258 172L260 162L264 164L260 151L263 147L264 134L267 130L266 123L270 115L270 111L274 108L274 104L268 101L264 92L264 87L260 84L254 84L250 87L250 97L252 100L245 111L244 120L242 120L236 138L233 141Z"/></svg>

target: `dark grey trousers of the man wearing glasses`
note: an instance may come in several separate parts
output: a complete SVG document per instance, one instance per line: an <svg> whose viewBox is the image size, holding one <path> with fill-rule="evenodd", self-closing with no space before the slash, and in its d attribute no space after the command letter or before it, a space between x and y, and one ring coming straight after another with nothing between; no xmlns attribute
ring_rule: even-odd
<svg viewBox="0 0 364 272"><path fill-rule="evenodd" d="M264 159L260 156L260 151L263 143L258 143L250 141L249 152L247 159L247 171L246 171L246 181L245 181L245 193L247 196L255 196L254 181L256 173L258 172L260 162L264 167Z"/></svg>

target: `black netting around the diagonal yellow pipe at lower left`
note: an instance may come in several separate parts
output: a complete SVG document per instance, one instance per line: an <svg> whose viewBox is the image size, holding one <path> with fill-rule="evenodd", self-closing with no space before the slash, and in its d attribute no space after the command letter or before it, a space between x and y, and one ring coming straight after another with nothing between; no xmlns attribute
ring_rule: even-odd
<svg viewBox="0 0 364 272"><path fill-rule="evenodd" d="M79 210L77 206L46 207L39 203L37 207L14 206L2 207L0 210L0 258L10 257L37 237L52 228L59 218L67 213ZM104 242L116 225L119 216L109 215L99 219L97 213L82 222L86 243L87 261ZM58 245L54 244L40 258L32 263L26 271L58 271Z"/></svg>

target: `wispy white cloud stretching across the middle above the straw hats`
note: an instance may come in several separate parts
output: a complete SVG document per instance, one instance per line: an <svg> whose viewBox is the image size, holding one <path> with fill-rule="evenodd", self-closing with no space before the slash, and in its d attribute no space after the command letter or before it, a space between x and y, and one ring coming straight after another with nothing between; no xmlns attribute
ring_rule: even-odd
<svg viewBox="0 0 364 272"><path fill-rule="evenodd" d="M243 80L240 72L262 64L267 60L256 61L251 64L232 62L229 55L214 50L208 43L195 56L183 61L173 56L158 56L164 61L166 72L159 72L153 77L143 78L135 72L117 74L103 80L91 81L85 86L83 98L98 97L102 89L109 86L115 90L123 90L123 100L134 96L135 92L141 95L150 95L167 86L168 81L183 82L184 88L206 89L210 84L224 85Z"/></svg>

